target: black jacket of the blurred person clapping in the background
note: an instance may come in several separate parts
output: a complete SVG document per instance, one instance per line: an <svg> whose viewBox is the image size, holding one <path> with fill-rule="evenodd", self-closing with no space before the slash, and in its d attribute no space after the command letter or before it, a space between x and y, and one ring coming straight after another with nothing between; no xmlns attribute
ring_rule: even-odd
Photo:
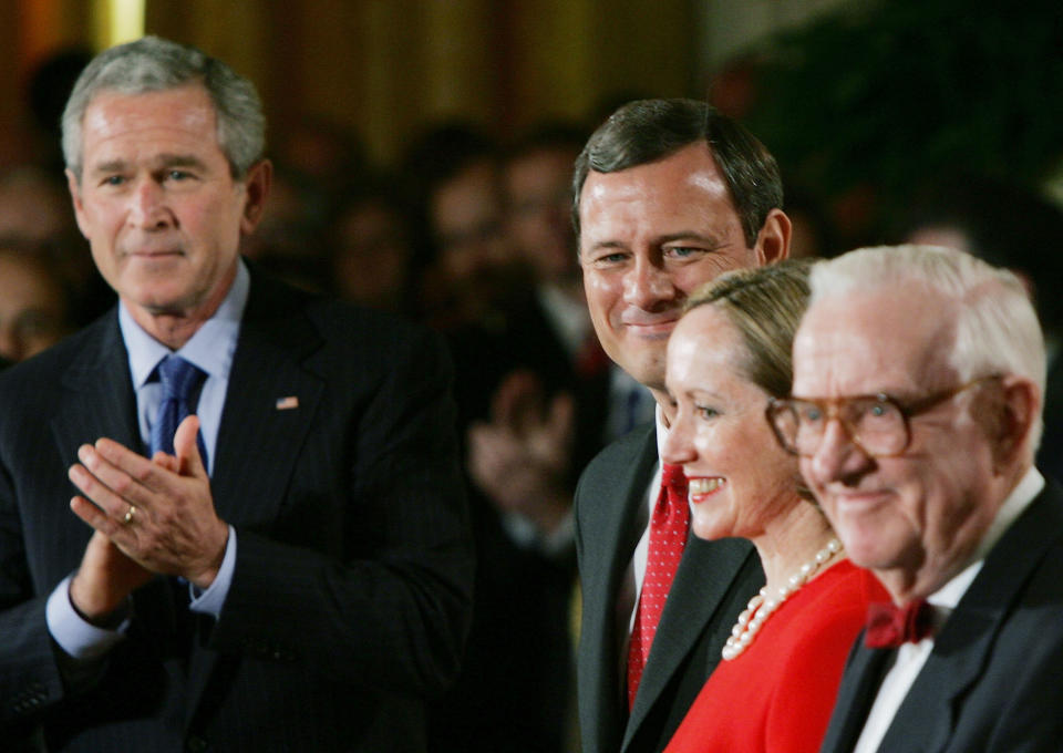
<svg viewBox="0 0 1063 753"><path fill-rule="evenodd" d="M529 371L547 398L563 390L575 398L572 473L566 479L575 488L602 445L608 370L578 374L530 292L493 323L497 329L485 323L451 334L462 434L469 422L489 420L492 399L507 375ZM478 563L473 625L458 681L430 708L430 750L560 753L572 725L575 553L569 547L547 555L515 540L475 484L469 502Z"/></svg>

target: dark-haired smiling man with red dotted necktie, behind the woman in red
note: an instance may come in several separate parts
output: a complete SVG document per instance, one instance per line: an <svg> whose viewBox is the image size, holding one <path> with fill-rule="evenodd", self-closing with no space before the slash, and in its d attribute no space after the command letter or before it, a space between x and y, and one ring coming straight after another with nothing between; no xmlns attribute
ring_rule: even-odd
<svg viewBox="0 0 1063 753"><path fill-rule="evenodd" d="M606 447L576 493L582 750L658 751L764 582L747 543L690 534L682 472L659 462L671 410L668 337L700 285L785 258L789 220L772 156L691 100L639 101L613 113L576 163L574 194L598 339L658 403L656 425Z"/></svg>

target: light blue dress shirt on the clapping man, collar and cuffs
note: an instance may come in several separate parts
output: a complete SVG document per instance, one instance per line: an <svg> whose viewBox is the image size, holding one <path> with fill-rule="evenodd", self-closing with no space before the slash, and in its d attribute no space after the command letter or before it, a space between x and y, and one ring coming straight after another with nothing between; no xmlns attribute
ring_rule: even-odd
<svg viewBox="0 0 1063 753"><path fill-rule="evenodd" d="M199 403L196 415L199 416L199 430L203 433L203 443L207 452L207 473L214 472L214 458L217 454L218 426L221 423L221 409L225 406L225 394L229 386L229 373L233 368L233 355L236 352L237 338L240 333L240 321L247 306L247 296L250 291L250 275L244 261L237 264L236 279L228 295L218 307L218 310L196 333L176 351L186 361L202 369L207 379L199 393ZM174 353L169 348L155 340L137 324L125 308L118 305L118 328L125 349L130 354L130 373L133 378L133 389L136 392L136 414L140 423L141 439L146 447L149 443L152 421L158 412L162 402L162 385L158 381L148 379L155 367L166 355ZM194 611L211 615L215 618L221 613L221 607L233 582L233 570L236 566L236 529L229 526L229 539L225 548L225 557L214 582L205 591L192 589L189 608ZM86 622L70 602L70 580L68 576L52 591L48 599L45 619L49 632L55 642L74 659L93 659L106 653L125 635L128 622L124 622L115 630L97 628Z"/></svg>

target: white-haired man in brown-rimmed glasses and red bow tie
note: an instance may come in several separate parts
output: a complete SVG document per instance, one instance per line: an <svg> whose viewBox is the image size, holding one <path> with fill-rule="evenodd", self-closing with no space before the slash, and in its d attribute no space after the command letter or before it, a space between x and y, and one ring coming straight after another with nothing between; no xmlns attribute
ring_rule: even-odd
<svg viewBox="0 0 1063 753"><path fill-rule="evenodd" d="M894 601L823 750L1060 750L1063 493L1033 467L1044 345L1023 287L902 246L822 264L812 290L773 420Z"/></svg>

